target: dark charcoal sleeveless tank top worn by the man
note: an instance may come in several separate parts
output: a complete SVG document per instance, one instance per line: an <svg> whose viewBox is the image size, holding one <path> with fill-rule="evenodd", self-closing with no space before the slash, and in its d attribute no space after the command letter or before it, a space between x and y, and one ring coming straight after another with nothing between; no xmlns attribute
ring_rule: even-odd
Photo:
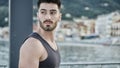
<svg viewBox="0 0 120 68"><path fill-rule="evenodd" d="M42 45L45 47L48 57L39 62L39 68L59 68L60 65L60 54L58 50L54 50L50 47L50 45L45 41L38 33L34 32L29 35L29 37L33 37L38 39Z"/></svg>

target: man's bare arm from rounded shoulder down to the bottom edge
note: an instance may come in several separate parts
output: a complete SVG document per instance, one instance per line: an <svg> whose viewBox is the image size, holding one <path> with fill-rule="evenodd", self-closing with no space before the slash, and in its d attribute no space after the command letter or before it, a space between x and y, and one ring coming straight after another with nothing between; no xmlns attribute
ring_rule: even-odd
<svg viewBox="0 0 120 68"><path fill-rule="evenodd" d="M38 68L39 58L42 55L42 48L38 40L30 38L20 48L19 68Z"/></svg>

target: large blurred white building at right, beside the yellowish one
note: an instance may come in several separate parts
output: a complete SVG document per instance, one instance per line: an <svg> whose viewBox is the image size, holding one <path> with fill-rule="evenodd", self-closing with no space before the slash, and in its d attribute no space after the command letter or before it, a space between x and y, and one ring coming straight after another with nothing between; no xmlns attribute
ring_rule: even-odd
<svg viewBox="0 0 120 68"><path fill-rule="evenodd" d="M98 16L96 20L95 33L99 34L100 37L111 37L111 32L113 32L111 28L114 24L113 18L118 15L120 15L118 12L113 12L110 14Z"/></svg>

